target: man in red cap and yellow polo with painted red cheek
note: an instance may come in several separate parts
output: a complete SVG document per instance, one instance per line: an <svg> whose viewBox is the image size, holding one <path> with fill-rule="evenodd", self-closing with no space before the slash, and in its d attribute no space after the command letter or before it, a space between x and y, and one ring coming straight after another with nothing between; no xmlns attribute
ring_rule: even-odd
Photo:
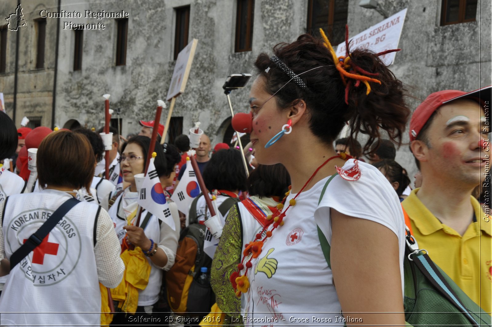
<svg viewBox="0 0 492 327"><path fill-rule="evenodd" d="M422 186L402 202L419 248L489 314L492 219L471 193L490 169L491 92L439 91L415 109L410 149Z"/></svg>

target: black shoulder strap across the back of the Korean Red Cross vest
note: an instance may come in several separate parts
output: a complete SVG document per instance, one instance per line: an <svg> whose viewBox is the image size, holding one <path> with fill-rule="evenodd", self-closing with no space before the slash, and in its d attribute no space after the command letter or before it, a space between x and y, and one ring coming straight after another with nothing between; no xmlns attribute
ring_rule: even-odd
<svg viewBox="0 0 492 327"><path fill-rule="evenodd" d="M10 256L10 270L41 244L43 239L55 228L58 222L62 220L63 216L79 202L80 201L75 197L71 197L63 202L63 204L53 212L50 218L48 218L48 220L46 220L44 224L29 237L28 241L21 245L21 247Z"/></svg>

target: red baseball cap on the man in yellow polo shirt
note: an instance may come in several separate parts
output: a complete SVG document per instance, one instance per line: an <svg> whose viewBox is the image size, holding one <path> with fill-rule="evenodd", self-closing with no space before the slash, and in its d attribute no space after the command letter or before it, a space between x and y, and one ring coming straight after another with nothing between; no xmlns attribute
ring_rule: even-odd
<svg viewBox="0 0 492 327"><path fill-rule="evenodd" d="M482 106L490 108L492 85L468 93L457 90L444 90L432 93L415 109L412 114L412 118L410 119L410 131L408 132L410 142L417 138L429 118L431 118L432 114L440 106L462 98L471 98L472 100L480 103Z"/></svg>

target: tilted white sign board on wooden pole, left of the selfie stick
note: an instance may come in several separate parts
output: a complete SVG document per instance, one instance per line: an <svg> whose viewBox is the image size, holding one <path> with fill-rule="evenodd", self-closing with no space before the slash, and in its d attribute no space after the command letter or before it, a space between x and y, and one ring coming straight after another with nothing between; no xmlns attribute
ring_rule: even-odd
<svg viewBox="0 0 492 327"><path fill-rule="evenodd" d="M172 98L177 97L184 92L197 43L198 40L194 38L178 54L178 59L176 59L176 65L174 66L173 77L171 78L171 85L169 86L169 91L167 91L167 101L170 101Z"/></svg>

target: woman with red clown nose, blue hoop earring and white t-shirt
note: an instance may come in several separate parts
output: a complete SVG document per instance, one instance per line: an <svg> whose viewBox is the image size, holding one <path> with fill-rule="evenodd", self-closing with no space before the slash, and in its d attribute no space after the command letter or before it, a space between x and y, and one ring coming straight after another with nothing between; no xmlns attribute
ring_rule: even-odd
<svg viewBox="0 0 492 327"><path fill-rule="evenodd" d="M282 163L292 181L231 278L246 295L245 325L265 312L275 325L405 324L400 201L377 168L338 156L333 141L348 121L351 138L369 135L366 153L382 130L400 144L410 112L379 54L348 51L337 58L326 37L304 34L260 54L251 111L233 119L258 163Z"/></svg>

